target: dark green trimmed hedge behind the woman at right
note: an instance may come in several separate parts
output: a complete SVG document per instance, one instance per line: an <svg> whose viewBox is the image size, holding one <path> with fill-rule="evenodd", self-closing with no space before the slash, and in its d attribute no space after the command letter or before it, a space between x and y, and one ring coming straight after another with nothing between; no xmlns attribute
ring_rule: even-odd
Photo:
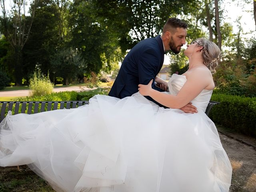
<svg viewBox="0 0 256 192"><path fill-rule="evenodd" d="M256 136L256 97L212 94L211 100L220 102L210 112L213 122L235 132Z"/></svg>

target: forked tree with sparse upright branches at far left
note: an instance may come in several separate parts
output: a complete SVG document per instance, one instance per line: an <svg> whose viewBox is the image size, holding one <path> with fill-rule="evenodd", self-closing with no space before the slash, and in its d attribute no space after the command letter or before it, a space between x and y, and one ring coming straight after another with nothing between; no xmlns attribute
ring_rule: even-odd
<svg viewBox="0 0 256 192"><path fill-rule="evenodd" d="M37 0L35 0L37 2ZM14 50L14 76L16 85L22 84L22 49L30 35L31 26L34 19L34 11L29 17L25 16L25 0L14 0L10 16L6 12L5 0L0 0L2 17L0 18L0 30L9 41Z"/></svg>

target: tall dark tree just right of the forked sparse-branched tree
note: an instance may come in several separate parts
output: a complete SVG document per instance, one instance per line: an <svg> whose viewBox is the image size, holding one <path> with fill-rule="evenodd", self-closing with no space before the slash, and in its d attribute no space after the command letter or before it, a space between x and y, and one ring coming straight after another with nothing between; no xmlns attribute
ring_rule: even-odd
<svg viewBox="0 0 256 192"><path fill-rule="evenodd" d="M34 73L35 66L40 67L44 74L50 70L50 57L63 46L62 36L59 34L60 12L54 0L38 0L32 4L30 12L35 11L33 25L23 50L24 77L29 79Z"/></svg>

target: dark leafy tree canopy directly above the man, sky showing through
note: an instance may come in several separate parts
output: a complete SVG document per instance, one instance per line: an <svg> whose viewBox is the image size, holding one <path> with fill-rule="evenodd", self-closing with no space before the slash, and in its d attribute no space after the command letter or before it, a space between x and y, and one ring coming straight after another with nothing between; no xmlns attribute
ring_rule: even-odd
<svg viewBox="0 0 256 192"><path fill-rule="evenodd" d="M108 25L118 30L122 51L131 49L145 38L160 34L168 18L189 15L195 7L200 7L199 0L109 0L104 4L101 0L94 2L98 14L104 15Z"/></svg>

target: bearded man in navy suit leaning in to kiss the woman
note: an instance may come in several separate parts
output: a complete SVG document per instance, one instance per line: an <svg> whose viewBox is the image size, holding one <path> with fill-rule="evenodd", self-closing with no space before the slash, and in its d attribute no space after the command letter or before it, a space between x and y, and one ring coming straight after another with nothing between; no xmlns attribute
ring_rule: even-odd
<svg viewBox="0 0 256 192"><path fill-rule="evenodd" d="M164 53L167 50L172 50L175 54L180 52L181 47L186 44L187 27L182 20L169 18L164 25L162 36L147 38L136 44L124 58L108 95L120 99L132 96L138 92L138 84L146 85L152 79L152 88L163 91L156 87L154 82L164 63ZM151 97L146 98L157 103ZM196 108L191 104L187 104L181 110L196 112Z"/></svg>

